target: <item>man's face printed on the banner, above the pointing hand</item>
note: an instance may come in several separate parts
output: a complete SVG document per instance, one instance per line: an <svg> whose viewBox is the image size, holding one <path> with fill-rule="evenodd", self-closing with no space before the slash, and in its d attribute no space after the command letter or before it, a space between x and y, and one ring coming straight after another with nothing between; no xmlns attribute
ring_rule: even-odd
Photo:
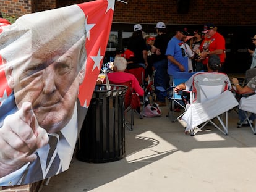
<svg viewBox="0 0 256 192"><path fill-rule="evenodd" d="M81 47L75 44L49 52L43 46L24 64L6 70L17 107L31 102L39 125L48 133L63 128L74 112L84 77L84 66L79 65Z"/></svg>

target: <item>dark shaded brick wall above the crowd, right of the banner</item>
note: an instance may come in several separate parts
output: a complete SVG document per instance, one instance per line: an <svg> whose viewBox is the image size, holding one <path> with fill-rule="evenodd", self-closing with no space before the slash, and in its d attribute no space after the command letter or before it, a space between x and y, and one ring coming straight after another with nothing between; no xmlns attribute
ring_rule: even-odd
<svg viewBox="0 0 256 192"><path fill-rule="evenodd" d="M186 0L179 0L188 2ZM116 2L113 22L216 25L255 25L256 1L239 0L190 0L186 14L178 12L178 0L137 0L129 4Z"/></svg>

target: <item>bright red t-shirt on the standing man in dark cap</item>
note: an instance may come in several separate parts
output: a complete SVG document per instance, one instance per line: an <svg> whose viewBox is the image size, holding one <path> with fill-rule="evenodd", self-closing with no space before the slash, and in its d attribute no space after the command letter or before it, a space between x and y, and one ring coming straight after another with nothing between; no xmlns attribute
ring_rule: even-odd
<svg viewBox="0 0 256 192"><path fill-rule="evenodd" d="M201 46L200 46L200 51L201 52L208 52L208 51L215 51L216 49L222 49L223 53L218 55L220 57L221 63L224 63L225 61L225 53L224 50L225 48L225 39L220 33L216 32L211 38L205 37L203 40ZM208 64L208 59L209 57L206 57L203 59L202 63L204 65Z"/></svg>

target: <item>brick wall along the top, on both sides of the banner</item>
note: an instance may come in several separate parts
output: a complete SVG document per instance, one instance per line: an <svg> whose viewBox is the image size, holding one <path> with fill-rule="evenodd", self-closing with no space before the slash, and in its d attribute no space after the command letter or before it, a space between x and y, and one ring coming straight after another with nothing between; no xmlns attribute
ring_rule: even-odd
<svg viewBox="0 0 256 192"><path fill-rule="evenodd" d="M126 0L128 4L116 1L113 22L202 25L213 22L216 25L256 25L256 1L254 0ZM87 1L78 0L7 0L0 1L2 12L23 15L30 12L63 7ZM179 4L181 6L179 7ZM189 6L187 6L189 5ZM188 7L185 14L178 12ZM181 10L182 11L182 10Z"/></svg>

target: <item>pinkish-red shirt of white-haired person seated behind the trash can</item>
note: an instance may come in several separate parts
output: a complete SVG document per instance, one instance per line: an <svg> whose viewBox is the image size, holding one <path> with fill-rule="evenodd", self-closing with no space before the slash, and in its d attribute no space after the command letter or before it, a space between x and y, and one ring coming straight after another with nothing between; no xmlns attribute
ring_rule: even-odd
<svg viewBox="0 0 256 192"><path fill-rule="evenodd" d="M144 90L139 84L139 81L134 76L134 74L126 73L126 72L114 72L114 73L108 73L108 80L112 81L116 84L118 83L125 83L127 81L132 81L132 89L139 94L139 96L144 96ZM104 80L104 83L106 83L106 78Z"/></svg>

